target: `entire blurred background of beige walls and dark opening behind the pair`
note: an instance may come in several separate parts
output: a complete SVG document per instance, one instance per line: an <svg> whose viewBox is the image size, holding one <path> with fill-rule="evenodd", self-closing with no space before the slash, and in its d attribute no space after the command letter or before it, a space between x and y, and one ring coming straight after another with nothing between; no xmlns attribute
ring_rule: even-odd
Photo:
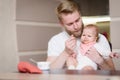
<svg viewBox="0 0 120 80"><path fill-rule="evenodd" d="M19 61L45 61L49 39L62 31L55 14L61 0L0 0L0 71L16 71ZM120 0L75 0L84 24L107 33L120 52ZM116 62L117 61L117 62ZM119 62L116 69L119 69Z"/></svg>

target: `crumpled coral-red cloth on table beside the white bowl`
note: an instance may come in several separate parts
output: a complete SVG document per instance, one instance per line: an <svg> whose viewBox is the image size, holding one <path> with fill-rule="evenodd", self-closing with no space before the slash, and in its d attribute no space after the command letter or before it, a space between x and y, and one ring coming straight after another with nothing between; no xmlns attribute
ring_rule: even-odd
<svg viewBox="0 0 120 80"><path fill-rule="evenodd" d="M38 67L28 63L28 62L19 62L18 70L22 73L32 73L32 74L41 74L42 70Z"/></svg>

